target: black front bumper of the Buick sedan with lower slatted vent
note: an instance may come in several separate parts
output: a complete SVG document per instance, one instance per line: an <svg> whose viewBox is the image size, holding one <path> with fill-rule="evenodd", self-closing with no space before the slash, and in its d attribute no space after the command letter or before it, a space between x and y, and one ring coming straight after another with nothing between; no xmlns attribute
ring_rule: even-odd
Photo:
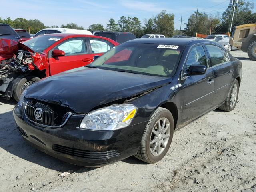
<svg viewBox="0 0 256 192"><path fill-rule="evenodd" d="M15 108L16 127L26 142L50 156L79 166L103 166L136 154L147 123L120 130L80 130L77 127L83 116L74 114L64 127L51 129L18 116Z"/></svg>

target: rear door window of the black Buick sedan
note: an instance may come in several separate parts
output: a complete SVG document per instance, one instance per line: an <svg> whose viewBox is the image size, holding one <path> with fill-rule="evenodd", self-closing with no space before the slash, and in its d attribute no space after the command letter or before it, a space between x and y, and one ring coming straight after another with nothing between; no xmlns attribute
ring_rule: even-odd
<svg viewBox="0 0 256 192"><path fill-rule="evenodd" d="M206 48L209 52L212 66L227 62L226 60L227 58L225 58L222 52L222 49L220 47L206 44Z"/></svg>

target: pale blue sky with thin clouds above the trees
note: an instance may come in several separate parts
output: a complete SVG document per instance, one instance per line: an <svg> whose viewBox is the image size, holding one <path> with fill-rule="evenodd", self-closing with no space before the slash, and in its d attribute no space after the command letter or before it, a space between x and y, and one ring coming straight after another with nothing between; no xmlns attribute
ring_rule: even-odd
<svg viewBox="0 0 256 192"><path fill-rule="evenodd" d="M206 3L207 2L207 3ZM116 22L121 16L138 17L143 24L162 10L174 14L174 28L186 26L190 14L196 11L208 14L222 14L229 0L0 0L2 19L38 19L45 26L75 23L87 29L100 23L106 27L110 18Z"/></svg>

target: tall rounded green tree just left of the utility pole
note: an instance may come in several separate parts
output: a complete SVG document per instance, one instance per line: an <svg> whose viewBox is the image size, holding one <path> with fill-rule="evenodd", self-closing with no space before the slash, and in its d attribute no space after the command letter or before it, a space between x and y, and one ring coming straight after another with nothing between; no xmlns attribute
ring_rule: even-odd
<svg viewBox="0 0 256 192"><path fill-rule="evenodd" d="M166 13L166 10L162 10L154 18L155 32L163 34L166 37L172 37L174 30L174 14Z"/></svg>

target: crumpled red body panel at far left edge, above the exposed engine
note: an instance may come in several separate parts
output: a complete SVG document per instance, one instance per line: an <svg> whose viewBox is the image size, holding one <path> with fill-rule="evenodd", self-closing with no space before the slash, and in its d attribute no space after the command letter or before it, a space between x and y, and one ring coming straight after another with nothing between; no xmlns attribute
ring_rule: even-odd
<svg viewBox="0 0 256 192"><path fill-rule="evenodd" d="M18 42L10 39L0 39L0 61L12 58L18 52Z"/></svg>

